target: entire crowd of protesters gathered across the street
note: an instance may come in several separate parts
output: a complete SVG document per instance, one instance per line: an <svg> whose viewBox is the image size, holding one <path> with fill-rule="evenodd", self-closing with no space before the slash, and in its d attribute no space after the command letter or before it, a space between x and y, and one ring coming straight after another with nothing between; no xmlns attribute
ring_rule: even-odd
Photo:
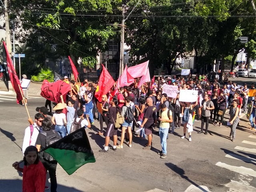
<svg viewBox="0 0 256 192"><path fill-rule="evenodd" d="M124 142L132 147L132 137L138 137L146 140L144 150L152 148L152 134L160 136L162 149L158 154L160 158L166 158L168 133L173 134L175 129L179 129L183 124L183 133L181 139L186 138L188 132L188 141L192 141L192 117L195 121L201 121L201 130L198 134L208 134L209 122L214 126L223 126L224 114L229 109L230 118L227 124L230 125L230 139L234 142L236 138L236 127L239 124L241 113L247 112L247 104L254 101L252 112L250 113L251 129L255 128L253 118L256 116L256 96L248 95L250 89L255 89L254 84L247 88L247 85L238 86L231 81L223 86L217 80L210 82L207 77L192 78L178 77L163 79L160 76L154 82L148 82L138 88L138 80L134 80L130 86L116 88L113 86L107 94L101 96L101 102L94 96L97 89L97 82L88 82L87 79L78 86L73 80L64 80L71 85L70 92L66 98L61 96L61 103L56 104L52 114L48 111L47 105L36 108L39 112L35 115L34 122L29 119L30 126L25 129L22 151L26 166L36 164L36 167L42 167L38 164L37 158L40 158L44 168L48 170L51 181L51 192L56 192L56 165L55 160L47 159L44 154L38 155L37 152L43 150L50 135L58 135L59 139L73 132L74 122L80 123L81 128L91 128L94 120L100 122L98 128L99 136L105 136L105 146L99 152L108 152L110 138L113 138L114 144L110 148L116 151L124 148ZM164 84L178 87L176 98L170 98L162 91ZM197 90L198 97L196 102L182 102L180 90ZM64 102L66 99L66 102ZM50 107L50 106L49 106ZM51 107L50 107L51 110ZM120 125L121 138L118 144L118 126L117 120L122 118ZM104 125L106 128L104 129ZM205 125L205 129L204 129ZM138 134L135 134L139 128ZM192 130L191 130L192 128ZM42 133L42 134L41 134ZM34 148L36 146L36 155ZM34 160L28 160L27 156L31 154ZM20 171L27 170L19 168L18 163L13 164L14 168ZM42 171L42 177L45 173ZM40 186L40 188L42 188ZM45 186L47 189L48 187Z"/></svg>

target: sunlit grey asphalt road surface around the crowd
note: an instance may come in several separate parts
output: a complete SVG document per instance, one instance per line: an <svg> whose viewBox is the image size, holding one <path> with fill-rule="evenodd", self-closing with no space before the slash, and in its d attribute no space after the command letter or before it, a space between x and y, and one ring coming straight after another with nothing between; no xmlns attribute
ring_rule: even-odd
<svg viewBox="0 0 256 192"><path fill-rule="evenodd" d="M237 82L248 80L248 84L255 82L250 78L236 79ZM28 115L25 107L16 104L15 96L2 93L0 192L20 192L22 175L12 168L12 163L22 159L21 146ZM35 108L44 106L45 99L31 96L34 98L28 100L28 110L33 117ZM225 115L225 121L227 117ZM235 142L228 138L230 128L226 126L210 124L211 134L204 135L197 134L200 122L195 122L192 142L180 139L182 129L175 130L175 134L169 134L165 159L157 154L161 149L157 135L153 136L152 150L143 150L146 140L134 137L132 148L124 145L116 152L100 153L98 150L103 148L104 136L96 134L99 127L97 120L94 125L86 132L96 163L86 164L70 176L58 165L58 192L156 192L157 189L166 192L256 191L256 136L244 117L237 128ZM47 185L50 186L49 183Z"/></svg>

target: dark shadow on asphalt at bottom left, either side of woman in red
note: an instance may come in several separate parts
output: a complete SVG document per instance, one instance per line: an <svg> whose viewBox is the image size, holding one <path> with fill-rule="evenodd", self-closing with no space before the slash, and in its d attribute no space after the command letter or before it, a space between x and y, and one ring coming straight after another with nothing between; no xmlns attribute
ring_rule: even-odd
<svg viewBox="0 0 256 192"><path fill-rule="evenodd" d="M0 180L1 184L1 191L6 191L6 192L20 192L22 190L22 180L14 179L14 180ZM58 184L58 191L61 192L86 192L77 190L74 187L67 187L64 185Z"/></svg>

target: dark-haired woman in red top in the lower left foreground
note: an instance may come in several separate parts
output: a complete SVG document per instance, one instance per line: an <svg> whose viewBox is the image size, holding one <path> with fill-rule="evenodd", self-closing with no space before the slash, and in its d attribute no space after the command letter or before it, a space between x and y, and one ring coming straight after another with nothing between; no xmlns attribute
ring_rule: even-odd
<svg viewBox="0 0 256 192"><path fill-rule="evenodd" d="M46 170L39 160L38 150L35 146L28 146L24 150L24 168L18 162L12 166L22 172L22 192L44 192Z"/></svg>

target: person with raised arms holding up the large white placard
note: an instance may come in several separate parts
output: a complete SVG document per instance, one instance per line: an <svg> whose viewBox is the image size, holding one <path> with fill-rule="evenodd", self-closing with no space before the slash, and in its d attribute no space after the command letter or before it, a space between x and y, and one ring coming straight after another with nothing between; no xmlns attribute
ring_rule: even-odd
<svg viewBox="0 0 256 192"><path fill-rule="evenodd" d="M186 130L188 126L189 119L192 117L192 109L197 105L197 100L195 104L191 104L190 102L180 102L180 106L182 106L182 123L183 123L183 133L184 135L181 137L181 139L184 139L186 137ZM191 117L190 117L191 116ZM189 138L188 141L192 141L191 138L192 132L188 132Z"/></svg>

